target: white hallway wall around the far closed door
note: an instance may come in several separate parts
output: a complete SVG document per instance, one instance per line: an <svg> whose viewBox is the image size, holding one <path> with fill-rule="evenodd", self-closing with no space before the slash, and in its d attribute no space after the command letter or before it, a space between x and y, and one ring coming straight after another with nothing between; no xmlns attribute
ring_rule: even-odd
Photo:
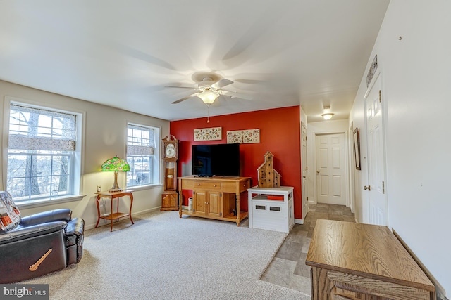
<svg viewBox="0 0 451 300"><path fill-rule="evenodd" d="M347 144L347 120L333 120L323 122L311 122L307 126L307 195L309 203L316 203L316 155L315 155L315 141L316 134L319 133L345 133L345 143Z"/></svg>

